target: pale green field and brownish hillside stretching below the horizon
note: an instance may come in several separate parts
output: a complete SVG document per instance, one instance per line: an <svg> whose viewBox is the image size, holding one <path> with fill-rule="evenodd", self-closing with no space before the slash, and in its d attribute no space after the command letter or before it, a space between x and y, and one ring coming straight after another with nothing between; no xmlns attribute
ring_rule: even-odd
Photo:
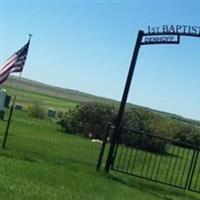
<svg viewBox="0 0 200 200"><path fill-rule="evenodd" d="M20 101L20 103L25 103L25 104L29 103L30 99L27 100L27 97L30 98L33 97L33 100L39 99L41 103L44 103L53 108L58 108L59 110L68 109L68 104L69 106L70 105L74 106L75 104L80 102L91 102L91 101L109 103L117 106L119 105L119 101L110 98L95 96L77 90L64 89L56 86L51 86L37 81L29 80L26 78L21 78L20 80L18 80L17 77L15 76L10 76L9 79L3 84L3 88L8 89L8 91L11 92L11 94L16 94L16 88L17 88L18 101ZM21 94L22 97L20 97ZM152 113L158 114L160 117L173 119L178 123L195 125L197 127L200 126L200 122L198 120L184 118L182 116L173 113L158 111L140 105L133 105L131 103L127 103L127 107L134 107L139 109L140 111L150 111Z"/></svg>

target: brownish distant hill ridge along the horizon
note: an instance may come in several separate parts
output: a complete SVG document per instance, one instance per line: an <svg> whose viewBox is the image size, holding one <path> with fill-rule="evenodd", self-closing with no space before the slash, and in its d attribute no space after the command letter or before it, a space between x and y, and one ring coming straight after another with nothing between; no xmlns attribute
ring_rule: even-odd
<svg viewBox="0 0 200 200"><path fill-rule="evenodd" d="M10 76L9 79L4 83L4 85L8 87L13 87L13 88L15 88L17 85L17 87L19 87L21 90L31 91L31 92L35 92L39 94L46 94L46 95L54 96L54 97L56 96L56 97L64 98L64 99L77 102L77 103L96 101L96 102L102 102L102 103L119 104L119 101L116 101L113 99L99 97L92 94L80 92L77 90L64 89L61 87L51 86L45 83L33 81L26 78L21 78L20 80L18 80L17 77L15 76ZM138 109L149 111L149 112L154 112L160 116L169 117L181 123L192 124L192 125L200 127L200 121L198 120L187 119L180 115L162 112L162 111L154 110L154 109L143 107L143 106L133 105L131 103L128 103L127 106L136 107Z"/></svg>

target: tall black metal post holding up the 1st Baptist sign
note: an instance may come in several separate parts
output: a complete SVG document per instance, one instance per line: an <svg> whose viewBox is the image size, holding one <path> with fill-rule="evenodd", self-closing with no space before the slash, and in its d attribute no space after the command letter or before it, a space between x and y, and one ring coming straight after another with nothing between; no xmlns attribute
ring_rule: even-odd
<svg viewBox="0 0 200 200"><path fill-rule="evenodd" d="M115 129L114 129L112 139L111 139L110 149L108 152L108 158L107 158L106 166L105 166L105 172L109 172L110 167L113 162L113 152L114 152L115 144L117 142L117 138L120 134L122 115L124 113L124 109L125 109L125 105L126 105L126 101L127 101L127 97L128 97L128 93L129 93L129 89L130 89L130 85L131 85L131 81L132 81L132 77L133 77L133 73L134 73L134 69L135 69L135 65L136 65L136 61L137 61L137 56L139 53L143 35L144 35L143 31L141 31L141 30L138 31L135 49L134 49L133 56L131 59L131 64L130 64L130 68L129 68L129 72L128 72L128 76L127 76L127 80L126 80L126 85L124 88L120 108L118 111L118 116L117 116L116 123L115 123Z"/></svg>

